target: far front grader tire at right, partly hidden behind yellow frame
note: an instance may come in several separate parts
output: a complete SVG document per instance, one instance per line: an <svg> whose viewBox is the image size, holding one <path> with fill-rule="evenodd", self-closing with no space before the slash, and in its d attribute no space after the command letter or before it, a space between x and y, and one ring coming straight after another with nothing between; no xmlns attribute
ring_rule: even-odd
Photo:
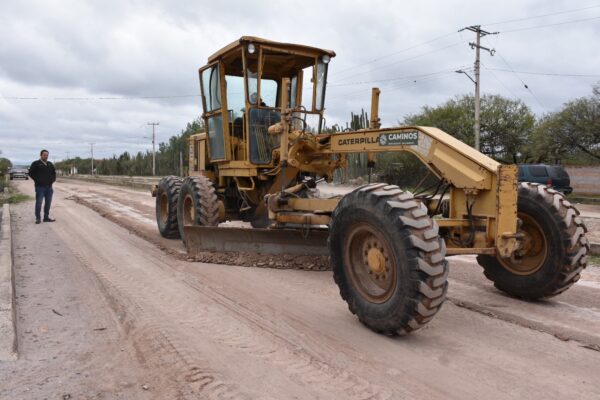
<svg viewBox="0 0 600 400"><path fill-rule="evenodd" d="M590 245L579 211L561 193L537 183L519 186L524 248L510 259L477 256L496 288L528 300L556 296L579 280Z"/></svg>

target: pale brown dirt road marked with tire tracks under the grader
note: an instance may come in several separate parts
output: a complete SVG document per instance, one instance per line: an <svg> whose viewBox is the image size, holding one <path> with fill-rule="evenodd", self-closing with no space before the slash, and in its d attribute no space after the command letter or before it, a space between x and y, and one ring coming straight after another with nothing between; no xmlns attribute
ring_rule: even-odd
<svg viewBox="0 0 600 400"><path fill-rule="evenodd" d="M453 258L440 313L388 338L329 271L185 261L146 192L60 182L54 204L41 225L12 208L20 359L0 364L2 399L600 397L598 267L525 303Z"/></svg>

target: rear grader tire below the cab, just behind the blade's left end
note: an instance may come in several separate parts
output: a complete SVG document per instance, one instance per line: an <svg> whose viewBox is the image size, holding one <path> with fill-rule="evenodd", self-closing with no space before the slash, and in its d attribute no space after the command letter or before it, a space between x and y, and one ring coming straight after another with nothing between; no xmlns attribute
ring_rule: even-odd
<svg viewBox="0 0 600 400"><path fill-rule="evenodd" d="M185 225L217 226L219 202L212 182L207 177L189 176L184 179L177 203L179 235L185 240Z"/></svg>

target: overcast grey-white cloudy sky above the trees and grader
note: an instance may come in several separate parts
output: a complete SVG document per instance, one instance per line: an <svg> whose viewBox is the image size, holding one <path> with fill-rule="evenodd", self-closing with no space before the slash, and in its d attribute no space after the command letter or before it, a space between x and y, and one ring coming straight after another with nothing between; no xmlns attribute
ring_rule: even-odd
<svg viewBox="0 0 600 400"><path fill-rule="evenodd" d="M151 149L202 113L198 68L243 35L335 50L328 125L369 109L383 126L465 93L482 25L483 94L541 115L600 81L600 1L0 2L0 157L29 164ZM525 88L525 85L529 89ZM142 98L141 98L142 97ZM144 99L143 97L167 97Z"/></svg>

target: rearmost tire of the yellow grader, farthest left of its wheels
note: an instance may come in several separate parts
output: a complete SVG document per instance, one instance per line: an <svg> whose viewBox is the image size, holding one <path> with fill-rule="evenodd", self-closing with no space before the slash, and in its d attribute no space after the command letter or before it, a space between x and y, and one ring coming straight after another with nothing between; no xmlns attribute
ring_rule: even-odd
<svg viewBox="0 0 600 400"><path fill-rule="evenodd" d="M165 176L158 182L156 191L156 223L158 231L168 239L179 238L177 223L177 201L181 179L177 176Z"/></svg>

